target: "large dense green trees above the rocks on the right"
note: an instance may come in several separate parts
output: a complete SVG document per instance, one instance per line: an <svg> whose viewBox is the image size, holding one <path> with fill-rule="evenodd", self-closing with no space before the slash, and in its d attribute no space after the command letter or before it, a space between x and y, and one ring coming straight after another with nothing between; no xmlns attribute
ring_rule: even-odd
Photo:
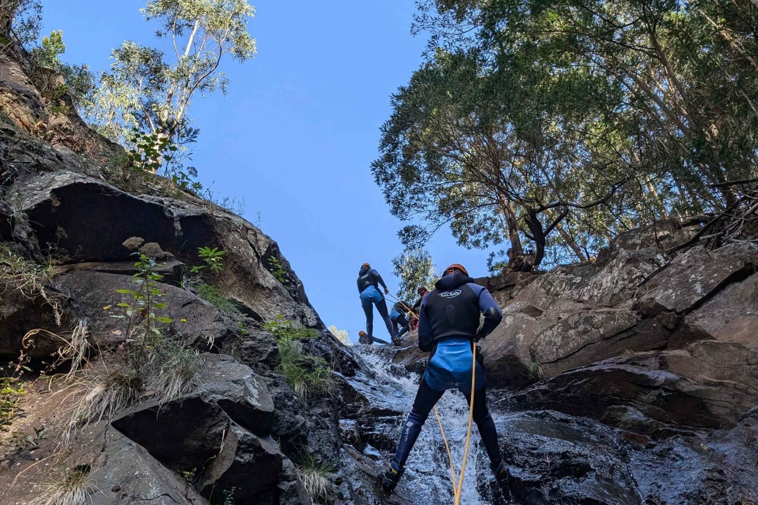
<svg viewBox="0 0 758 505"><path fill-rule="evenodd" d="M418 245L586 260L619 232L724 209L758 175L754 8L422 0L427 61L393 95L372 170ZM728 147L727 147L728 146Z"/></svg>

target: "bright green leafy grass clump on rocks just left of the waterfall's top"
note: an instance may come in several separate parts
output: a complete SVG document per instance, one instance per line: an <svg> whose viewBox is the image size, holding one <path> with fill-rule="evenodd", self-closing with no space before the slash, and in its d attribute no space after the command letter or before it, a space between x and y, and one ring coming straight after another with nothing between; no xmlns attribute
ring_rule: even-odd
<svg viewBox="0 0 758 505"><path fill-rule="evenodd" d="M311 394L330 394L336 384L327 363L302 353L302 340L318 338L318 331L285 320L278 315L274 321L264 323L265 329L277 338L279 363L276 371L299 397Z"/></svg>

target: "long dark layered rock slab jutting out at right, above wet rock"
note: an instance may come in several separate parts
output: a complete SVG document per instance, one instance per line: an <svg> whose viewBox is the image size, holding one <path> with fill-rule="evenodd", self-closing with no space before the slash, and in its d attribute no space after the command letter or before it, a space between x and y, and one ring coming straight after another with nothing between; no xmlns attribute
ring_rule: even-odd
<svg viewBox="0 0 758 505"><path fill-rule="evenodd" d="M549 408L578 416L627 422L656 432L662 424L716 429L735 422L758 401L754 363L721 369L703 361L703 344L690 350L647 352L615 357L560 373L520 391L509 402L521 408ZM731 353L731 351L726 351ZM754 359L754 358L751 358ZM716 358L716 365L718 365ZM728 375L727 375L728 374ZM619 416L619 407L629 408ZM629 416L639 413L638 422Z"/></svg>

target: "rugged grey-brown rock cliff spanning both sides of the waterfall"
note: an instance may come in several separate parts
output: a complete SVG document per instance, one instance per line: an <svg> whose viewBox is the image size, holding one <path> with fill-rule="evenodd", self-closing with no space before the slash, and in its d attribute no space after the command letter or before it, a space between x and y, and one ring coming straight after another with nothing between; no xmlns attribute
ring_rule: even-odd
<svg viewBox="0 0 758 505"><path fill-rule="evenodd" d="M339 344L276 242L136 176L24 65L0 55L0 364L26 389L2 432L0 503L59 503L76 482L78 503L102 505L447 503L432 423L397 493L377 487L424 367L413 335L406 348ZM693 232L642 230L597 263L478 279L505 316L481 348L513 479L494 489L475 447L468 503L758 503L758 247L662 253ZM143 349L158 357L104 404L130 324L148 317L114 317L138 306L133 237L154 244L164 322ZM189 274L205 246L227 251L202 277L223 304ZM283 340L285 321L313 332ZM297 373L328 370L329 387L293 388L293 357ZM165 369L189 377L167 384ZM457 456L465 407L446 394L440 411ZM304 485L315 475L327 494Z"/></svg>

